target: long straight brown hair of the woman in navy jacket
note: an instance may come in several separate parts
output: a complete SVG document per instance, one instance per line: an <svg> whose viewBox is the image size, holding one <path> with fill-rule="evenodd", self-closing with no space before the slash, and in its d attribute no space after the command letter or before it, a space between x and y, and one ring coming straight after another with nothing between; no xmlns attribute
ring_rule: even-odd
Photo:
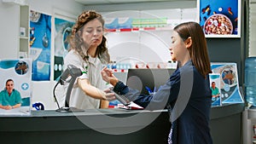
<svg viewBox="0 0 256 144"><path fill-rule="evenodd" d="M189 55L195 68L206 78L208 73L212 73L211 63L207 50L207 39L201 26L196 22L184 22L173 29L183 38L192 39L192 48L189 49Z"/></svg>

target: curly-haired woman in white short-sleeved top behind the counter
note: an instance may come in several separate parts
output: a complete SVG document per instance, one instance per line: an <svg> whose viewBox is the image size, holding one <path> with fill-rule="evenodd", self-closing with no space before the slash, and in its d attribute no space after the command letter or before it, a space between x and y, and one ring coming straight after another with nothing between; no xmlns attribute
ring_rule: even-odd
<svg viewBox="0 0 256 144"><path fill-rule="evenodd" d="M79 15L72 29L70 49L64 58L64 70L68 65L81 69L82 75L77 78L71 98L70 107L79 109L107 108L107 88L102 80L103 64L110 60L106 47L102 15L94 10L84 11ZM68 84L64 84L67 90Z"/></svg>

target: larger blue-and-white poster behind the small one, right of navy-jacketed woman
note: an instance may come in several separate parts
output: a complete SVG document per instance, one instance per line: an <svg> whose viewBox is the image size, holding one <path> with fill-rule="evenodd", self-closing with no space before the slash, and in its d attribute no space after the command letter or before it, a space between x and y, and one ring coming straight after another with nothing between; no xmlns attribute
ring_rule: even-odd
<svg viewBox="0 0 256 144"><path fill-rule="evenodd" d="M211 63L212 73L220 75L220 96L222 103L243 103L239 90L236 63Z"/></svg>

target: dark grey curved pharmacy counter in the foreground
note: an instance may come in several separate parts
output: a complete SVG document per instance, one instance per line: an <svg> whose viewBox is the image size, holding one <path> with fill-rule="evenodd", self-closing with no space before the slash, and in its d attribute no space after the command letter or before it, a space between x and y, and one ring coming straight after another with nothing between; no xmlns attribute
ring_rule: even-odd
<svg viewBox="0 0 256 144"><path fill-rule="evenodd" d="M243 110L244 104L212 107L214 143L240 144ZM29 116L1 117L0 139L26 144L166 144L170 126L166 110L32 111Z"/></svg>

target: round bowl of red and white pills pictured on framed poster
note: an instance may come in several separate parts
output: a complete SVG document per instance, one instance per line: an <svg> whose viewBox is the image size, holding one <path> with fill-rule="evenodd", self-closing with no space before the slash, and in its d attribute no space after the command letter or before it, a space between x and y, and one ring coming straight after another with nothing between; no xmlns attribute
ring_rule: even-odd
<svg viewBox="0 0 256 144"><path fill-rule="evenodd" d="M226 15L212 14L205 22L204 32L207 35L231 35L233 25Z"/></svg>

